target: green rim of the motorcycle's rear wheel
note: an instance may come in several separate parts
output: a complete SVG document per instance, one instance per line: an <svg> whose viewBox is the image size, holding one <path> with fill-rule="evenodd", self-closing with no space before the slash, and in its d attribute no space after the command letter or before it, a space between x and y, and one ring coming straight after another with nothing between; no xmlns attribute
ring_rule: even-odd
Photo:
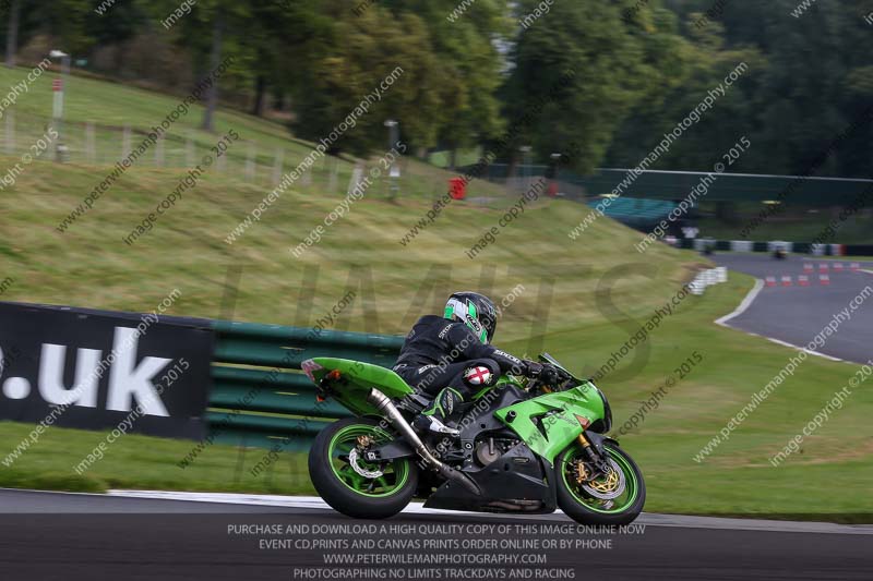
<svg viewBox="0 0 873 581"><path fill-rule="evenodd" d="M392 439L391 434L384 429L367 424L348 425L334 434L327 446L327 457L336 480L361 496L384 498L396 494L409 479L409 462L393 460L380 465L359 458L360 467L372 471L381 470L383 474L376 479L358 474L348 463L348 455L357 446L358 436L370 436L376 444L385 444Z"/></svg>

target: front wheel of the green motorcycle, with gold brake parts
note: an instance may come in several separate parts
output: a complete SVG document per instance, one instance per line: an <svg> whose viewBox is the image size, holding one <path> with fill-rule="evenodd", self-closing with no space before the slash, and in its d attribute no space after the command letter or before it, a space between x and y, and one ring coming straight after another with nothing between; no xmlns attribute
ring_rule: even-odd
<svg viewBox="0 0 873 581"><path fill-rule="evenodd" d="M643 511L646 484L636 462L614 444L605 444L612 471L606 477L579 482L577 463L584 458L571 446L555 461L558 506L582 524L630 524Z"/></svg>

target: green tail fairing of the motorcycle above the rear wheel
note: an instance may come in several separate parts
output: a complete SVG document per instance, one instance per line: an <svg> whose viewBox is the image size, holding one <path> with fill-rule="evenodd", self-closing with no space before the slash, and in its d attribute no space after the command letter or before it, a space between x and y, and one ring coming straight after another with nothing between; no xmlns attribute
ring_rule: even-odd
<svg viewBox="0 0 873 581"><path fill-rule="evenodd" d="M331 397L358 415L379 415L379 410L367 401L373 387L392 399L414 392L399 375L379 365L335 358L313 358L309 361L321 366L311 371L316 385L328 372L339 372L339 380L333 385Z"/></svg>

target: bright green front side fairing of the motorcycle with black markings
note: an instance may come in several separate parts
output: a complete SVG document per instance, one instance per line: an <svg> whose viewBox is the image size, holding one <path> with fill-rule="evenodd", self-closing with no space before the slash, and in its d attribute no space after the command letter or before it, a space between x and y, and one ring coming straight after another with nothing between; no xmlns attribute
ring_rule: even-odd
<svg viewBox="0 0 873 581"><path fill-rule="evenodd" d="M515 419L510 422L506 416L512 411L515 412ZM533 419L549 412L554 413L540 419L546 433L543 436ZM555 456L582 433L576 415L586 417L590 423L603 419L603 401L590 382L564 391L521 401L494 412L494 416L518 434L531 450L552 463Z"/></svg>

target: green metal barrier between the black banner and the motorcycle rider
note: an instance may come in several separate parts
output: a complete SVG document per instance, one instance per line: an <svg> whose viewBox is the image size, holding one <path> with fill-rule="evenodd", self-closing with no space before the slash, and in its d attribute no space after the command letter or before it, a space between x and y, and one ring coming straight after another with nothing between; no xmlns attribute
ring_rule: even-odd
<svg viewBox="0 0 873 581"><path fill-rule="evenodd" d="M391 367L403 337L217 320L213 389L206 420L224 444L307 450L330 422L351 415L334 401L316 402L300 372L314 356Z"/></svg>

